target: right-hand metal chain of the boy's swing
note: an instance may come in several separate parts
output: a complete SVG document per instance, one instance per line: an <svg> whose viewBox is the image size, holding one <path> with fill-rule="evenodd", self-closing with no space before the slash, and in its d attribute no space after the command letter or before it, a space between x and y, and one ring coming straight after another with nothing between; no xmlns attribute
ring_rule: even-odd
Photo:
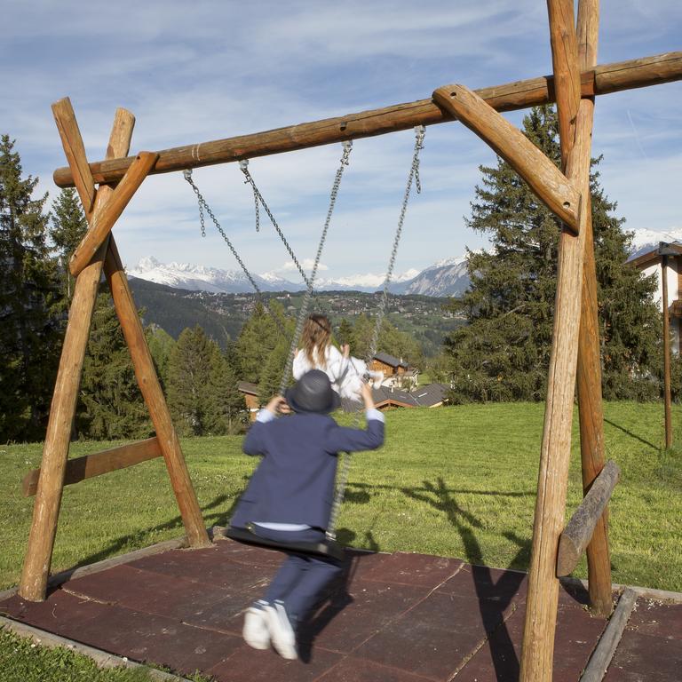
<svg viewBox="0 0 682 682"><path fill-rule="evenodd" d="M398 227L396 228L395 235L393 237L393 249L391 250L391 258L388 262L388 269L386 270L386 277L384 280L384 288L382 291L381 302L379 304L379 311L377 313L377 321L374 325L374 332L372 334L372 339L369 343L369 354L367 357L367 363L371 362L374 355L377 353L377 345L379 342L379 333L381 331L381 325L384 321L386 305L388 302L388 286L391 283L391 278L393 277L393 266L395 266L395 258L398 254L398 246L400 244L400 236L402 234L402 226L405 222L405 214L408 210L409 194L412 189L412 183L415 183L417 194L421 194L422 183L419 178L419 152L424 148L424 135L426 129L423 125L418 125L415 128L415 150L412 155L412 165L409 169L408 174L408 184L405 187L405 195L402 198L402 206L400 208L400 218L398 218ZM353 424L357 427L360 423L360 413L355 418L355 423ZM336 540L336 528L338 514L341 511L341 504L344 502L345 496L345 486L348 483L348 473L351 468L351 456L348 453L344 453L343 462L341 464L341 471L338 474L337 480L337 494L334 497L334 501L331 505L331 513L329 514L329 524L327 527L326 535L329 540Z"/></svg>

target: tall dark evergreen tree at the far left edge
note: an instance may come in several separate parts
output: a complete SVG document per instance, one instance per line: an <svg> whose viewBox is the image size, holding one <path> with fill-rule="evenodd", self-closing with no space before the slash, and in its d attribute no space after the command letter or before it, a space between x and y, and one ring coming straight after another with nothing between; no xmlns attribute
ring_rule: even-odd
<svg viewBox="0 0 682 682"><path fill-rule="evenodd" d="M47 244L47 194L22 178L0 136L0 440L41 440L59 361L59 292Z"/></svg>

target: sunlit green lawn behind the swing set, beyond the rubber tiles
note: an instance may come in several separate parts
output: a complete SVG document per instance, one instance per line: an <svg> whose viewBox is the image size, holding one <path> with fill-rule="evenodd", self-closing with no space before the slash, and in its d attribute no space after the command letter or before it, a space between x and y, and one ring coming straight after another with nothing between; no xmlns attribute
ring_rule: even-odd
<svg viewBox="0 0 682 682"><path fill-rule="evenodd" d="M622 469L610 506L615 583L682 591L682 457L662 448L659 404L605 406L607 458ZM353 456L339 537L379 551L420 551L491 567L528 566L543 405L510 403L387 413L387 440ZM674 408L679 424L682 408ZM350 419L348 419L350 421ZM679 430L678 430L679 432ZM255 460L240 437L183 442L206 525L225 525ZM75 443L71 456L101 443ZM582 498L575 418L567 515ZM40 445L0 447L0 589L16 584L33 498L20 480ZM52 570L182 535L163 461L65 488ZM586 576L583 563L575 575Z"/></svg>

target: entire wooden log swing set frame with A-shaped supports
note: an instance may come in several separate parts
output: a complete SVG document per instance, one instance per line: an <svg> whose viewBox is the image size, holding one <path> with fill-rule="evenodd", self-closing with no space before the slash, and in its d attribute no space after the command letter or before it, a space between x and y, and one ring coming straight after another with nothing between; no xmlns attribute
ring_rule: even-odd
<svg viewBox="0 0 682 682"><path fill-rule="evenodd" d="M21 597L45 599L64 485L156 456L165 459L188 545L198 548L210 544L111 234L144 178L458 120L510 163L564 224L559 236L556 313L520 679L551 680L558 575L573 570L585 549L591 608L597 615L610 615L613 596L607 502L618 470L604 462L597 281L589 201L594 100L596 95L682 79L682 52L597 66L599 0L579 0L577 22L573 0L547 0L547 6L553 75L476 92L463 85L446 85L434 91L431 99L155 153L141 152L134 157L128 156L134 117L118 109L105 160L97 163L88 163L69 100L61 99L52 106L68 162L68 167L54 172L54 180L61 187L76 187L90 228L69 264L76 277L75 292L42 466L31 472L24 484L25 494L36 495L36 503L20 580ZM550 102L556 102L559 115L560 171L499 114ZM83 359L103 271L156 435L98 455L68 460ZM586 496L564 528L576 383Z"/></svg>

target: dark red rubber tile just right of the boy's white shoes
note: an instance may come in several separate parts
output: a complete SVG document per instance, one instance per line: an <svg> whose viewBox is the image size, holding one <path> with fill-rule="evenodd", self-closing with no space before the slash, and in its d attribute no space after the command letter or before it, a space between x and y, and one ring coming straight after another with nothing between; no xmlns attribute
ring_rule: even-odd
<svg viewBox="0 0 682 682"><path fill-rule="evenodd" d="M350 652L428 594L424 587L359 581L337 593L301 631L302 646Z"/></svg>

